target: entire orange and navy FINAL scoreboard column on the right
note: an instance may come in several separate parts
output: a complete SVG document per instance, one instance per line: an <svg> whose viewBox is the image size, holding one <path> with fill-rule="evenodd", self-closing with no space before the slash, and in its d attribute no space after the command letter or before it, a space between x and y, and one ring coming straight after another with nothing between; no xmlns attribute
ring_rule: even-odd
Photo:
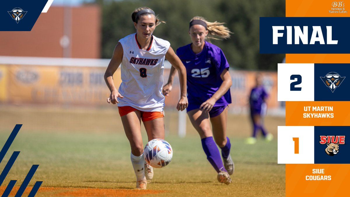
<svg viewBox="0 0 350 197"><path fill-rule="evenodd" d="M260 53L278 64L278 163L286 196L348 196L350 178L350 1L286 0L286 17L260 18Z"/></svg>

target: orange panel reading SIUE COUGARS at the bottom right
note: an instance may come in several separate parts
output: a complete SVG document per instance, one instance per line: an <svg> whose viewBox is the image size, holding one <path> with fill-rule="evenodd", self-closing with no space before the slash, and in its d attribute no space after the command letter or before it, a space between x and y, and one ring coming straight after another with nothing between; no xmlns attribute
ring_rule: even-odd
<svg viewBox="0 0 350 197"><path fill-rule="evenodd" d="M286 196L348 196L349 177L350 164L288 164Z"/></svg>

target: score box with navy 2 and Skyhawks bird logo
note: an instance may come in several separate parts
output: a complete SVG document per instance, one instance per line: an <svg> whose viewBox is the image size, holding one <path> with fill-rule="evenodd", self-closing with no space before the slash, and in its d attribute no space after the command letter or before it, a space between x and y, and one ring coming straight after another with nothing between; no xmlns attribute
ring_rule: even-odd
<svg viewBox="0 0 350 197"><path fill-rule="evenodd" d="M278 101L350 101L350 64L278 64L278 85Z"/></svg>

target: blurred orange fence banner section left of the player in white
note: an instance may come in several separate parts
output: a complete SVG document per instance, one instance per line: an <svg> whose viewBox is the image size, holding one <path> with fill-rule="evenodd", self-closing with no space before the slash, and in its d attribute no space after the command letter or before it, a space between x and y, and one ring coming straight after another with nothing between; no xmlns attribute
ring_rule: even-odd
<svg viewBox="0 0 350 197"><path fill-rule="evenodd" d="M110 95L103 67L7 65L7 68L8 103L94 106L107 103ZM114 74L114 82L118 87L120 71Z"/></svg>

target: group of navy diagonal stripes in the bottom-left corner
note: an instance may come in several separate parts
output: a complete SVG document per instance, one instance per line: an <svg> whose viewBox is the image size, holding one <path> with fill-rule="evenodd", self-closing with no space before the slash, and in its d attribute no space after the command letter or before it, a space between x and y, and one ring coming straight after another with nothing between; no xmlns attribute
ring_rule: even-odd
<svg viewBox="0 0 350 197"><path fill-rule="evenodd" d="M7 141L5 142L5 145L2 147L1 151L0 151L0 163L2 162L2 159L5 157L8 149L10 148L13 140L15 139L15 137L17 136L19 130L21 129L22 124L16 124L15 128L12 130L12 133L10 134L10 136L8 137ZM5 168L2 170L1 174L0 174L0 186L2 185L3 181L5 180L8 172L10 171L10 169L12 168L12 165L15 163L18 155L20 154L20 151L14 151L12 156L10 157L10 159L8 160ZM39 165L32 165L26 178L24 179L23 183L21 184L20 188L18 189L15 197L20 197L23 195L23 192L26 190L31 178L33 178L35 171L38 169ZM12 191L14 185L16 184L17 180L11 180L5 191L3 192L3 194L1 195L1 197L7 197L10 195L10 192ZM35 182L33 189L31 189L28 197L34 197L36 192L39 190L40 186L42 184L42 181L37 181Z"/></svg>

